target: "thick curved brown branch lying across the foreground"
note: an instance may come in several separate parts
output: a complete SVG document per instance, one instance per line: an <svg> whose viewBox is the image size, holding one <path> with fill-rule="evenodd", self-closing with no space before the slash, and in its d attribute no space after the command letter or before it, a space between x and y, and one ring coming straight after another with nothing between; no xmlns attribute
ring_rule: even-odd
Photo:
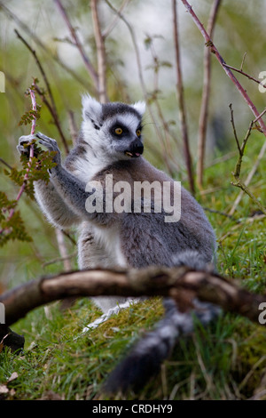
<svg viewBox="0 0 266 418"><path fill-rule="evenodd" d="M260 304L266 295L239 288L233 280L207 271L186 267L146 269L90 269L43 277L2 293L6 326L27 312L51 301L69 296L155 296L176 299L183 309L192 308L192 300L211 301L224 310L242 315L259 325ZM184 297L185 295L185 297ZM188 297L189 296L189 297ZM1 327L1 326L0 326Z"/></svg>

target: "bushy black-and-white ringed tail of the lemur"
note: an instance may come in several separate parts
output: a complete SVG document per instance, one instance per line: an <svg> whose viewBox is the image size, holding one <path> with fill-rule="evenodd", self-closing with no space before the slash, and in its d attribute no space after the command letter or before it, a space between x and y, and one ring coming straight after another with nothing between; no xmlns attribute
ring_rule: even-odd
<svg viewBox="0 0 266 418"><path fill-rule="evenodd" d="M187 265L192 269L206 268L199 253L187 251L176 256L175 266ZM160 372L160 365L171 354L178 338L182 335L192 334L194 316L203 326L206 326L220 312L212 303L198 300L193 301L194 309L190 312L180 312L176 301L165 299L163 301L165 317L160 320L156 328L145 334L129 352L129 356L109 375L104 391L108 394L125 393L128 390L140 390L154 374Z"/></svg>

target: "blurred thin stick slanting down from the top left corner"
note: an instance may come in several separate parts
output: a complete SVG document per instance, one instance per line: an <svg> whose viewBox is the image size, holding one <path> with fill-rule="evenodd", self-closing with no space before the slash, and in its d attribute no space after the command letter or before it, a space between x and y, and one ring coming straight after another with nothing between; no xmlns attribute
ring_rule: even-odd
<svg viewBox="0 0 266 418"><path fill-rule="evenodd" d="M87 81L83 80L78 74L76 74L72 68L67 67L66 64L59 59L59 56L57 55L57 53L52 53L51 50L48 50L46 46L43 44L43 42L39 39L39 37L35 36L35 33L29 30L28 26L25 25L25 23L23 23L14 13L12 13L2 2L0 2L0 8L5 13L5 15L8 16L8 18L16 22L20 26L20 28L22 28L27 33L27 35L30 36L30 38L33 39L35 43L38 44L43 49L44 52L49 54L52 60L57 62L57 64L59 64L61 68L64 68L66 72L69 73L71 76L73 76L73 78L78 83L88 88Z"/></svg>

